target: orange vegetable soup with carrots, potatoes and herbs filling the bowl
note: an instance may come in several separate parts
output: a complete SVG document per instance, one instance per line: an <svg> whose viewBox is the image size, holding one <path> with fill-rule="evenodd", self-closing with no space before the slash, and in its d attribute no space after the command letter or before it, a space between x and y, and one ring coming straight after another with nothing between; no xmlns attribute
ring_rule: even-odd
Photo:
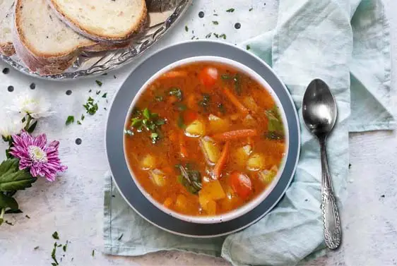
<svg viewBox="0 0 397 266"><path fill-rule="evenodd" d="M152 198L191 216L236 210L270 185L285 130L270 93L212 62L186 64L146 87L124 131L129 167Z"/></svg>

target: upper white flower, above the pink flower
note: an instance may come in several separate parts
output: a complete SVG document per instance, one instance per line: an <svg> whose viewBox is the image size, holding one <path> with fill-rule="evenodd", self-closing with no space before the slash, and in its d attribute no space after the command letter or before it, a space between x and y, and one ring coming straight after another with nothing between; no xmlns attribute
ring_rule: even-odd
<svg viewBox="0 0 397 266"><path fill-rule="evenodd" d="M40 117L47 117L54 114L54 111L50 111L50 107L51 105L45 99L35 98L25 93L15 97L13 104L8 109L23 116L29 114L34 119L40 119Z"/></svg>

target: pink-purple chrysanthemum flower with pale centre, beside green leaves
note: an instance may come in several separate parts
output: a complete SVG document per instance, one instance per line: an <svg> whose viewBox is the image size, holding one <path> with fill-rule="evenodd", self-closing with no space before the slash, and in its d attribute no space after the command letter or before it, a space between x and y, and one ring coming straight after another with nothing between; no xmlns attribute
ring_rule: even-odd
<svg viewBox="0 0 397 266"><path fill-rule="evenodd" d="M13 147L10 154L19 159L19 169L30 168L32 176L45 176L54 181L59 171L66 171L58 157L59 141L47 145L47 136L38 135L36 138L22 131L20 135L13 135Z"/></svg>

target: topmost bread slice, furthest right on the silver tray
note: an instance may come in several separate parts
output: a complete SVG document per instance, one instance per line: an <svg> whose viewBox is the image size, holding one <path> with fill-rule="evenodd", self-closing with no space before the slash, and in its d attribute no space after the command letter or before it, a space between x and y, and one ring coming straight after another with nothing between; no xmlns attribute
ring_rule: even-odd
<svg viewBox="0 0 397 266"><path fill-rule="evenodd" d="M125 42L146 22L145 0L47 0L61 20L92 40Z"/></svg>

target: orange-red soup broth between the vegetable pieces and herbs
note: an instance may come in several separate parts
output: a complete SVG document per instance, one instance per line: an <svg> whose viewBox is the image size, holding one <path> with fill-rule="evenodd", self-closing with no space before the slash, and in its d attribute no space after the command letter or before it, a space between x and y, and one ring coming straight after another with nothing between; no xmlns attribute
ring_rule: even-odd
<svg viewBox="0 0 397 266"><path fill-rule="evenodd" d="M202 210L198 202L198 195L189 193L186 191L186 188L177 181L177 176L180 174L180 171L174 166L176 164L191 163L194 169L200 171L203 183L211 180L209 172L213 169L213 166L207 164L206 158L198 143L199 138L189 138L184 135L184 130L179 128L177 124L179 116L182 115L183 117L186 110L196 112L198 118L206 123L206 135L209 136L213 135L211 128L208 126L209 114L228 119L230 121L228 131L247 128L255 128L259 131L259 135L255 137L231 140L230 154L235 152L238 148L249 144L252 146L253 152L263 154L265 158L265 166L263 169L271 169L274 165L279 167L285 154L285 140L271 140L264 137L266 128L268 127L268 118L265 115L265 111L271 109L275 105L274 99L266 89L243 73L240 73L240 95L234 92L235 84L233 80L218 78L213 87L205 87L198 79L199 72L203 69L203 66L213 66L217 68L220 75L227 74L233 76L237 73L237 70L230 66L213 63L189 64L173 69L172 71L186 71L187 75L175 78L157 78L153 83L148 85L135 105L138 109L147 107L152 113L157 113L161 118L166 119L165 125L161 126L161 139L158 143L153 144L152 140L148 137L149 134L146 132L125 136L126 158L131 170L136 176L136 180L141 184L143 189L160 204L163 204L165 200L168 199L167 207L170 210L193 216L206 216L208 214ZM174 97L170 97L167 94L172 87L178 87L182 90L182 101L175 101ZM247 96L255 100L258 109L255 112L252 110L249 112L249 115L255 119L253 125L247 126L247 123L243 122L244 117L239 114L239 111L235 105L230 102L230 99L227 99L223 93L224 88L233 91L240 102L244 102L244 97ZM205 109L198 104L198 102L203 99L203 94L210 96L208 107ZM156 100L156 97L162 97L162 102ZM220 104L223 105L223 108L219 107ZM180 111L181 106L186 106L187 109L185 111ZM189 123L189 121L184 121L184 123ZM126 128L130 128L129 125L130 121L127 121ZM180 155L181 138L186 145L186 158ZM217 141L220 150L222 150L224 144L225 141ZM160 169L166 175L165 186L156 186L150 179L148 171L141 169L141 159L149 153L155 157L155 168ZM247 174L251 179L253 190L249 198L243 200L232 191L229 181L229 175L232 171L241 171ZM249 202L263 193L266 186L268 186L268 183L265 184L259 179L258 171L248 171L247 167L241 166L235 162L232 156L229 156L227 164L222 171L220 184L223 187L223 191L227 194L227 197L216 201L216 214L223 214L241 207L246 202ZM186 197L186 205L182 208L183 210L180 206L178 207L175 205L178 195L184 195Z"/></svg>

